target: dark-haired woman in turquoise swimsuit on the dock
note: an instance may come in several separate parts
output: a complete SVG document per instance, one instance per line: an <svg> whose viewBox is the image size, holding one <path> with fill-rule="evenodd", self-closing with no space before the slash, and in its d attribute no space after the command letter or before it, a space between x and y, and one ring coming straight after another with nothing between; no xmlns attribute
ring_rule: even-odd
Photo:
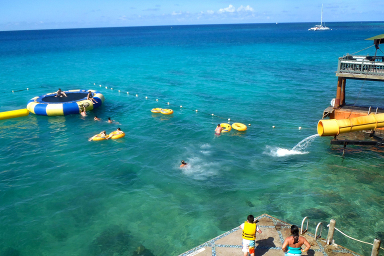
<svg viewBox="0 0 384 256"><path fill-rule="evenodd" d="M303 236L298 236L298 226L292 225L290 227L291 236L285 238L284 243L281 246L285 256L299 256L301 252L305 252L310 248L309 242ZM301 245L305 245L302 249Z"/></svg>

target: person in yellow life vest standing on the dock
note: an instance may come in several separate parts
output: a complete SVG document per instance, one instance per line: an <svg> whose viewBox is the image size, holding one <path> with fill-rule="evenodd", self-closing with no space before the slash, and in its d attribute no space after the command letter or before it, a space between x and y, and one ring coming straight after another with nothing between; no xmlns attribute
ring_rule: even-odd
<svg viewBox="0 0 384 256"><path fill-rule="evenodd" d="M246 221L240 225L242 229L242 251L244 256L254 256L254 240L256 239L256 232L261 233L256 223L253 223L253 215L248 215Z"/></svg>

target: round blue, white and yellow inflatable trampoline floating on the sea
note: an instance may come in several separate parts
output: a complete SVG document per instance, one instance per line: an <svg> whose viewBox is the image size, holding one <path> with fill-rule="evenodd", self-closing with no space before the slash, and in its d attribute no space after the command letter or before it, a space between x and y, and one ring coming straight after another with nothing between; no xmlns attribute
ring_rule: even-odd
<svg viewBox="0 0 384 256"><path fill-rule="evenodd" d="M87 99L88 91L91 91L92 100ZM47 93L31 98L26 108L37 115L67 115L78 114L82 107L92 110L104 102L104 96L96 90L68 90L65 96L56 97L56 92Z"/></svg>

